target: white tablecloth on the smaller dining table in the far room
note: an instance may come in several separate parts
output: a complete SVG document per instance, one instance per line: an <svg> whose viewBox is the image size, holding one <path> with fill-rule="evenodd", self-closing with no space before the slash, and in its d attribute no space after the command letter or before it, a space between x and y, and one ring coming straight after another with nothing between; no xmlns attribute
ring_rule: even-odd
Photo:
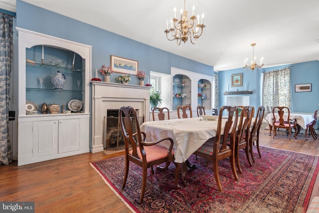
<svg viewBox="0 0 319 213"><path fill-rule="evenodd" d="M279 115L275 114L276 119L279 119ZM284 114L284 120L287 120L288 114ZM307 124L311 123L314 119L314 114L303 114L303 113L290 113L290 119L295 119L297 124L299 124L303 129L306 129ZM269 113L266 120L270 125L273 125L273 113Z"/></svg>

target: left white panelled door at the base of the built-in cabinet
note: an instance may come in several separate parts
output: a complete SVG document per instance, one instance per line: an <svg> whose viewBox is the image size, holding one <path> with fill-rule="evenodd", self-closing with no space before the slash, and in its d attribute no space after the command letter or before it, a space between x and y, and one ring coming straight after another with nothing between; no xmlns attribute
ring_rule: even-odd
<svg viewBox="0 0 319 213"><path fill-rule="evenodd" d="M58 153L58 121L33 122L33 158Z"/></svg>

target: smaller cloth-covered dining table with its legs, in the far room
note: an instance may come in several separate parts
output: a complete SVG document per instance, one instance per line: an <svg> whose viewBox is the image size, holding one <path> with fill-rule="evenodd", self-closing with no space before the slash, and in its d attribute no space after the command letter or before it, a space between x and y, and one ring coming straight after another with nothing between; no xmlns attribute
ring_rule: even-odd
<svg viewBox="0 0 319 213"><path fill-rule="evenodd" d="M279 119L279 115L275 114L276 120ZM269 125L269 135L271 135L271 131L273 129L273 113L269 113L266 116L266 120L268 122ZM284 114L284 120L287 120L288 118L288 113ZM289 116L290 120L294 120L296 119L296 123L297 123L297 133L296 136L298 136L298 134L300 133L301 128L306 129L307 125L310 124L314 119L314 114L308 114L308 113L290 113ZM306 136L307 139L307 136Z"/></svg>

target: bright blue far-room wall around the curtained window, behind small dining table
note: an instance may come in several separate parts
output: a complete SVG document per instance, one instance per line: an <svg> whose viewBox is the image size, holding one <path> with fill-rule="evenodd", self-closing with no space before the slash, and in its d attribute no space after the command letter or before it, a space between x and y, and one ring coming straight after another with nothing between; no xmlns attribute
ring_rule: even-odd
<svg viewBox="0 0 319 213"><path fill-rule="evenodd" d="M309 61L296 64L287 64L283 66L267 67L261 70L245 71L243 68L231 69L219 72L219 107L221 107L226 101L223 91L226 91L228 84L231 85L231 75L243 73L243 86L231 87L229 91L245 90L245 82L247 90L253 90L253 94L250 96L250 105L258 108L261 103L261 89L262 89L262 72L268 72L271 70L281 69L284 67L292 66L291 69L291 92L292 92L292 111L314 113L319 109L319 61ZM312 84L311 92L295 92L295 84Z"/></svg>

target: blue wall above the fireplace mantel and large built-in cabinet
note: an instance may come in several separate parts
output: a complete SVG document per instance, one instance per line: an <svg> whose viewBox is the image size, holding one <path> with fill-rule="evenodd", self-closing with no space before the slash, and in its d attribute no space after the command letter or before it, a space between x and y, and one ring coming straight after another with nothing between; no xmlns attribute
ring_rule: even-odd
<svg viewBox="0 0 319 213"><path fill-rule="evenodd" d="M176 67L205 75L212 75L213 67L158 48L106 31L58 13L34 6L21 0L16 2L16 25L25 29L84 43L92 46L92 76L101 65L110 65L111 55L139 61L139 70L170 74ZM168 41L167 41L168 42ZM176 46L176 48L178 48ZM119 73L110 75L111 82ZM102 75L99 75L102 78ZM136 77L130 84L139 85Z"/></svg>

